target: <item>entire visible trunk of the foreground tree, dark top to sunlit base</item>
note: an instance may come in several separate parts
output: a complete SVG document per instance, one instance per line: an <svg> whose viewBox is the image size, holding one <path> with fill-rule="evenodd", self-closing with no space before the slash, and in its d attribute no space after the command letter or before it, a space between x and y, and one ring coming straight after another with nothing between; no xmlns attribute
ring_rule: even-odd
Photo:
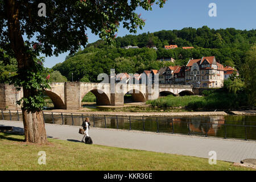
<svg viewBox="0 0 256 182"><path fill-rule="evenodd" d="M19 1L5 0L5 13L7 16L9 40L18 62L18 69L26 70L32 67L34 63L31 55L27 54L27 48L24 47L24 40L20 31ZM23 97L28 98L30 96L32 96L31 89L23 88ZM32 112L22 109L22 115L25 141L47 143L42 110Z"/></svg>

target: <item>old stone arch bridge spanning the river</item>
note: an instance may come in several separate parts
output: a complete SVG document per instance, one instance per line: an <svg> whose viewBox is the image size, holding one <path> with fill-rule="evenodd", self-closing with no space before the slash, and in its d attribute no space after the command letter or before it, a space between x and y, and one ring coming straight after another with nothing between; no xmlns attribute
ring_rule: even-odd
<svg viewBox="0 0 256 182"><path fill-rule="evenodd" d="M159 96L193 94L189 85L145 85L145 84L102 84L88 82L53 82L46 90L56 109L79 109L82 98L92 92L97 105L122 106L124 96L130 93L134 102L155 100ZM0 109L20 109L16 101L23 97L22 89L13 85L0 84Z"/></svg>

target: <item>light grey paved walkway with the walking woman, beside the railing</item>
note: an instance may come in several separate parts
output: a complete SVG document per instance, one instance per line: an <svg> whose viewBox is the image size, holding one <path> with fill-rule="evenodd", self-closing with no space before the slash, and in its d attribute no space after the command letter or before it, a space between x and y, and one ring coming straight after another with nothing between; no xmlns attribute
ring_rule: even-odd
<svg viewBox="0 0 256 182"><path fill-rule="evenodd" d="M23 131L23 122L0 121L1 125L14 126L14 131ZM46 133L49 138L80 142L82 135L78 131L78 126L46 124ZM94 144L104 146L134 148L201 158L209 158L209 151L216 151L217 160L239 163L243 159L256 159L256 142L254 141L93 127L90 127L89 135L92 137Z"/></svg>

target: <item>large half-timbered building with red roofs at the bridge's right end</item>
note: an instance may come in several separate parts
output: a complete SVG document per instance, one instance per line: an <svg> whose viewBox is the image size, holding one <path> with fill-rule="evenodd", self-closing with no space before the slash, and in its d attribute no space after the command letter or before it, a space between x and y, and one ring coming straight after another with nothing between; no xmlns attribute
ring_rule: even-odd
<svg viewBox="0 0 256 182"><path fill-rule="evenodd" d="M191 59L185 68L186 85L203 88L221 88L224 86L224 66L215 56Z"/></svg>

